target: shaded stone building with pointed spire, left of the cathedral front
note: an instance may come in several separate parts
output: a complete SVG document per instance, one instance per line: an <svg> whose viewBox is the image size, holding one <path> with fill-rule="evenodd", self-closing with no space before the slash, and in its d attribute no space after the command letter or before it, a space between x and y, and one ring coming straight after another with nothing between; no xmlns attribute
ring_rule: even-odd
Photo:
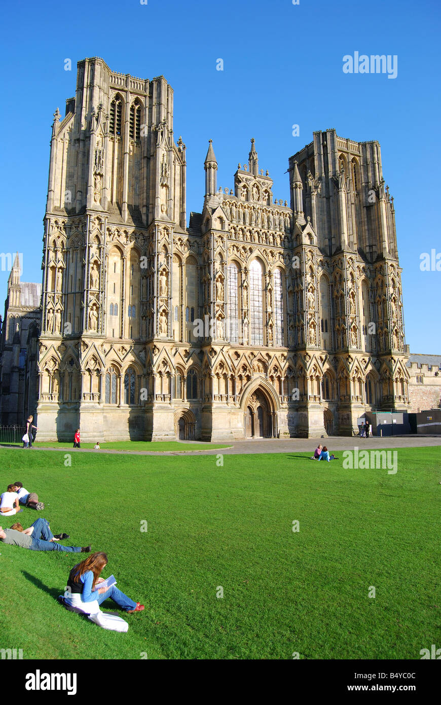
<svg viewBox="0 0 441 705"><path fill-rule="evenodd" d="M8 278L0 336L0 424L24 424L37 407L42 285L20 281L17 253Z"/></svg>

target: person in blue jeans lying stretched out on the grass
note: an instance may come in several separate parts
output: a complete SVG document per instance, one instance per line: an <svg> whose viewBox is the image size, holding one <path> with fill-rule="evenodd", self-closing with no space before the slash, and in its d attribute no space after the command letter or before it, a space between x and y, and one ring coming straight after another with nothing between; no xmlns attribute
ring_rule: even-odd
<svg viewBox="0 0 441 705"><path fill-rule="evenodd" d="M23 529L21 524L13 524L11 529L0 527L0 541L11 546L30 548L31 551L66 551L73 553L89 553L90 546L61 546L56 539L67 539L68 534L54 534L46 519L37 519L29 527Z"/></svg>

